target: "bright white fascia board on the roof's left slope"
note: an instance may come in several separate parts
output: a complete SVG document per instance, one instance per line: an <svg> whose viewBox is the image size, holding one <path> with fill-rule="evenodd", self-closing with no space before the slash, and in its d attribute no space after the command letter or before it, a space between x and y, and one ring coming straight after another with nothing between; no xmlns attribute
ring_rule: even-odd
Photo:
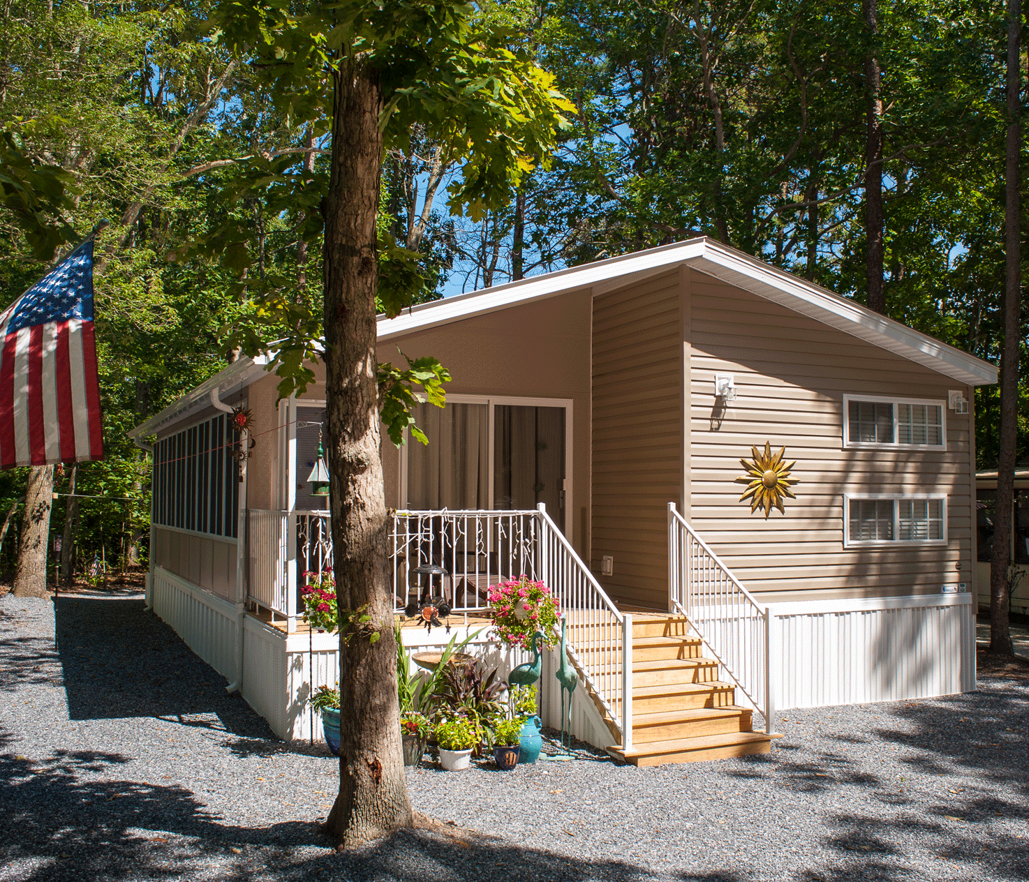
<svg viewBox="0 0 1029 882"><path fill-rule="evenodd" d="M612 257L610 260L584 263L581 266L547 272L545 275L522 279L495 288L486 288L483 291L420 303L395 319L381 317L379 341L384 342L413 331L506 309L519 303L543 300L576 289L592 288L611 279L620 279L637 272L652 272L664 267L671 268L701 254L704 251L704 243L703 238L694 238L662 248L652 248L649 251Z"/></svg>

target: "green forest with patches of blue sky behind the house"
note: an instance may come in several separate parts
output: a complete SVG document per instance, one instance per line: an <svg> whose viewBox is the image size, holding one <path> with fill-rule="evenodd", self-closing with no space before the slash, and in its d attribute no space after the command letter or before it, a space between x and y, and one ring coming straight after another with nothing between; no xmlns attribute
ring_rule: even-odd
<svg viewBox="0 0 1029 882"><path fill-rule="evenodd" d="M451 213L453 160L413 132L387 157L383 253L428 299L704 233L864 302L880 281L866 259L879 198L887 315L997 363L1004 9L881 1L876 33L868 6L481 4L555 75L576 105L572 125L548 169L476 218ZM320 323L327 123L297 126L275 111L217 40L211 8L0 0L5 143L67 173L60 220L78 238L111 221L95 279L107 457L77 470L80 568L99 553L130 560L145 544L147 463L126 432L239 352ZM3 304L50 265L0 206ZM292 352L294 366L305 352ZM1020 460L1025 401L1023 382ZM995 467L997 389L979 390L975 406L979 465ZM28 472L0 474L0 515ZM68 492L69 472L56 492ZM51 539L65 512L59 497ZM0 545L8 569L19 521Z"/></svg>

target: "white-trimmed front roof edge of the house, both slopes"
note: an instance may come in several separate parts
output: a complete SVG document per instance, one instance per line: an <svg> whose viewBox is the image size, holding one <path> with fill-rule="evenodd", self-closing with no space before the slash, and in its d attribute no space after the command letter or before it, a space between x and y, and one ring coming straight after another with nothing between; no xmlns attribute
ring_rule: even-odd
<svg viewBox="0 0 1029 882"><path fill-rule="evenodd" d="M590 288L595 295L602 294L678 265L720 279L958 382L987 385L997 381L997 368L989 362L706 236L421 303L395 319L380 317L379 340L569 291Z"/></svg>

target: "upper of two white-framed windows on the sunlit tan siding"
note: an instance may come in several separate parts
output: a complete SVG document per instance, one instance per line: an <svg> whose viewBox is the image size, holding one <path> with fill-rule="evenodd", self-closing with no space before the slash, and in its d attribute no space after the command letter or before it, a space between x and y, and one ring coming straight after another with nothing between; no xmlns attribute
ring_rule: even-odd
<svg viewBox="0 0 1029 882"><path fill-rule="evenodd" d="M844 447L947 449L947 402L844 395Z"/></svg>

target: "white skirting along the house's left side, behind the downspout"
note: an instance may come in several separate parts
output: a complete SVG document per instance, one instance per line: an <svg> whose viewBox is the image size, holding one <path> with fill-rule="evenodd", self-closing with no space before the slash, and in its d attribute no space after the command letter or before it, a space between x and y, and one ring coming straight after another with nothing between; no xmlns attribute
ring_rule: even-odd
<svg viewBox="0 0 1029 882"><path fill-rule="evenodd" d="M236 608L163 566L150 586L153 612L229 682L236 678Z"/></svg>

